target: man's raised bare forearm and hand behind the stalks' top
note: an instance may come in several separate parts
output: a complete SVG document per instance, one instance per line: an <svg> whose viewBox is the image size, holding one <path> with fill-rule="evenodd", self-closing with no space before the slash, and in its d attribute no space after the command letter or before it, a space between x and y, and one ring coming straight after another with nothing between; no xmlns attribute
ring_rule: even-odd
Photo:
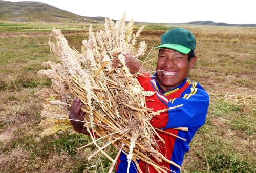
<svg viewBox="0 0 256 173"><path fill-rule="evenodd" d="M112 54L112 56L115 57L115 59L113 60L113 67L117 67L118 65L120 65L117 54ZM125 57L126 67L129 68L131 74L146 73L146 70L142 67L142 64L130 53L123 53L123 56Z"/></svg>

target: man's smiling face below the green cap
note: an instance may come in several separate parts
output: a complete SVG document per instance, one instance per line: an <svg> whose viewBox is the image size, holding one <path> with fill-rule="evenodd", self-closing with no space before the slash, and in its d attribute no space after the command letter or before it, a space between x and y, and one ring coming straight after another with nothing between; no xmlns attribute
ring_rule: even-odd
<svg viewBox="0 0 256 173"><path fill-rule="evenodd" d="M197 57L188 61L188 55L172 49L160 49L157 61L157 82L164 90L181 84L193 69Z"/></svg>

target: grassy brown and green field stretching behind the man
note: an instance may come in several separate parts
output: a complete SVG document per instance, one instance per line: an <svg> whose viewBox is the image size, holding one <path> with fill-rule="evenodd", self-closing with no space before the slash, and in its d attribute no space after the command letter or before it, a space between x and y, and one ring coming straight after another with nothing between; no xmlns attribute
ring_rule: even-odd
<svg viewBox="0 0 256 173"><path fill-rule="evenodd" d="M76 150L89 137L62 131L39 136L45 101L36 93L51 81L38 77L37 71L44 68L42 62L56 61L48 45L49 39L54 41L52 26L80 51L89 24L0 24L0 172L107 172L110 163L105 157L87 161L94 147ZM190 143L182 172L255 172L256 28L152 24L140 38L148 45L147 53L171 27L194 33L198 60L189 78L210 95L206 124ZM102 28L94 25L94 30ZM150 52L148 70L154 70L157 53ZM109 152L114 158L116 150Z"/></svg>

